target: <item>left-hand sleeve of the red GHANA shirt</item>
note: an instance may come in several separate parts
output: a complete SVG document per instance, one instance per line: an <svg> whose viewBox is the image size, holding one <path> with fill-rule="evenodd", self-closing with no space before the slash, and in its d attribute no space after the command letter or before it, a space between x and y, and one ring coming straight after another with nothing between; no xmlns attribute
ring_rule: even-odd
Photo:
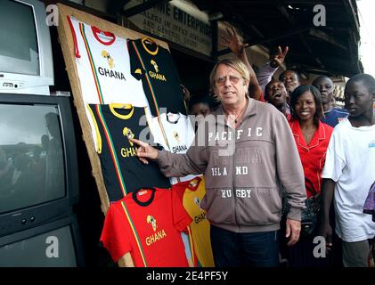
<svg viewBox="0 0 375 285"><path fill-rule="evenodd" d="M115 262L131 250L129 233L125 213L114 205L110 206L105 216L100 240Z"/></svg>

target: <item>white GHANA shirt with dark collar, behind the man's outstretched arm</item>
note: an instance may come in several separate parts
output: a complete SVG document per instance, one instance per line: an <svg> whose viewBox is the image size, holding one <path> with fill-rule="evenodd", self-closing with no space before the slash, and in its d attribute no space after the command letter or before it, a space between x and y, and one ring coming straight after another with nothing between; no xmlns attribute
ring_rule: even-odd
<svg viewBox="0 0 375 285"><path fill-rule="evenodd" d="M186 153L194 140L194 128L188 116L181 113L162 113L152 118L152 134L155 142L161 144L166 151ZM195 175L171 178L171 183L192 180Z"/></svg>

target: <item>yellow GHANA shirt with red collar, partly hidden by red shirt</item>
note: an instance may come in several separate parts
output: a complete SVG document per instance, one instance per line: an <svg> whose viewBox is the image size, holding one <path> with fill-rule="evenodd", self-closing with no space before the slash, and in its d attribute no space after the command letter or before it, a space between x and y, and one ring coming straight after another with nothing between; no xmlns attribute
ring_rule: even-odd
<svg viewBox="0 0 375 285"><path fill-rule="evenodd" d="M209 222L206 211L200 208L200 201L206 195L206 186L203 176L193 178L191 181L172 185L172 191L183 201L183 208L192 217L190 236L191 248L196 254L197 263L203 267L214 267L211 240L209 236Z"/></svg>

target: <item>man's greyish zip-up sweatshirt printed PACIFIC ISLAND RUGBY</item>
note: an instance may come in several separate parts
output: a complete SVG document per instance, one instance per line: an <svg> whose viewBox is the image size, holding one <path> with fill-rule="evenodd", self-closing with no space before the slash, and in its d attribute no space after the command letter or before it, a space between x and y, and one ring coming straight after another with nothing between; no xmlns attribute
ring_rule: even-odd
<svg viewBox="0 0 375 285"><path fill-rule="evenodd" d="M159 151L156 161L168 177L205 176L207 193L200 208L217 227L231 232L280 229L281 187L288 218L301 219L306 199L301 160L287 119L271 104L249 99L237 129L226 124L220 107L200 122L186 154Z"/></svg>

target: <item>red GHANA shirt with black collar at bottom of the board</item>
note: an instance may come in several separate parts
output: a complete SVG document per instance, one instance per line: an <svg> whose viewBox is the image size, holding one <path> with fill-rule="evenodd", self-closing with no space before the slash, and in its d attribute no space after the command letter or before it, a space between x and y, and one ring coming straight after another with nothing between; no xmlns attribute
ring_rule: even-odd
<svg viewBox="0 0 375 285"><path fill-rule="evenodd" d="M135 191L110 205L101 241L114 261L130 252L136 267L186 267L181 232L191 222L175 192Z"/></svg>

